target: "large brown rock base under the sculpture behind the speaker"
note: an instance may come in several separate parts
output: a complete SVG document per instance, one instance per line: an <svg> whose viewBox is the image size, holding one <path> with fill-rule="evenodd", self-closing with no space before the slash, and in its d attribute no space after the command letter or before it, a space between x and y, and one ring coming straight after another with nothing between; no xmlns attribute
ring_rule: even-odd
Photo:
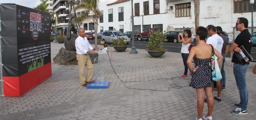
<svg viewBox="0 0 256 120"><path fill-rule="evenodd" d="M98 63L98 53L89 54L92 64ZM76 51L68 51L65 48L60 48L59 53L53 58L54 63L60 65L77 65Z"/></svg>

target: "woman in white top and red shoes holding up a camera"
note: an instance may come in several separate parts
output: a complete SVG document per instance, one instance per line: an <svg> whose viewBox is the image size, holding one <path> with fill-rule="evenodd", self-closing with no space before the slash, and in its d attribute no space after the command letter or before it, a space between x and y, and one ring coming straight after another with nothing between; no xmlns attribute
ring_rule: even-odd
<svg viewBox="0 0 256 120"><path fill-rule="evenodd" d="M180 75L180 77L187 77L188 74L188 65L187 65L187 60L188 60L188 55L189 55L189 51L188 48L191 44L192 38L191 38L191 31L189 29L184 30L185 36L183 37L183 33L180 33L178 35L178 41L179 43L182 42L182 47L181 47L181 56L183 59L183 64L185 67L185 71L183 75ZM181 36L181 39L180 39ZM191 73L189 74L191 75Z"/></svg>

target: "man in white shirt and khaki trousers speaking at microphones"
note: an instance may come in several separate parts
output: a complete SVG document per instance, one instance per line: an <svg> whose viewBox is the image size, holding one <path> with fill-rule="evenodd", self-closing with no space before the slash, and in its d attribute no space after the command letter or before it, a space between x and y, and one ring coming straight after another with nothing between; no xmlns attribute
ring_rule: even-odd
<svg viewBox="0 0 256 120"><path fill-rule="evenodd" d="M80 83L82 86L86 86L90 82L94 82L92 80L93 74L93 66L92 61L90 59L89 53L93 53L96 51L90 43L88 42L87 38L85 37L84 29L78 29L79 36L76 38L75 46L76 46L76 59L78 61L78 68L79 68L79 77ZM84 76L84 66L87 68L86 78Z"/></svg>

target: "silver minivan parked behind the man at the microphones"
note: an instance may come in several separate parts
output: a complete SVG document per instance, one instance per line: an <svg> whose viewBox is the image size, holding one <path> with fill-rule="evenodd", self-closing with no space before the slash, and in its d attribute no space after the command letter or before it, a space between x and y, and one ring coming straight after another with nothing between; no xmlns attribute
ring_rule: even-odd
<svg viewBox="0 0 256 120"><path fill-rule="evenodd" d="M127 41L127 44L130 43L129 37L127 37L126 35L124 35L124 33L120 31L105 31L103 32L101 39L107 44L112 44L113 39L117 39L117 37L124 37L124 40Z"/></svg>

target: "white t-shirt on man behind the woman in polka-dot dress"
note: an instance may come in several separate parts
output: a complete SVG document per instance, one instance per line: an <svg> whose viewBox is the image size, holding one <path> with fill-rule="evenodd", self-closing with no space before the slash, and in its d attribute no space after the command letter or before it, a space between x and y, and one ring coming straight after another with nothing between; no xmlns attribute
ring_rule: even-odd
<svg viewBox="0 0 256 120"><path fill-rule="evenodd" d="M214 34L211 37L208 37L206 43L212 45L221 54L224 41L218 34Z"/></svg>

